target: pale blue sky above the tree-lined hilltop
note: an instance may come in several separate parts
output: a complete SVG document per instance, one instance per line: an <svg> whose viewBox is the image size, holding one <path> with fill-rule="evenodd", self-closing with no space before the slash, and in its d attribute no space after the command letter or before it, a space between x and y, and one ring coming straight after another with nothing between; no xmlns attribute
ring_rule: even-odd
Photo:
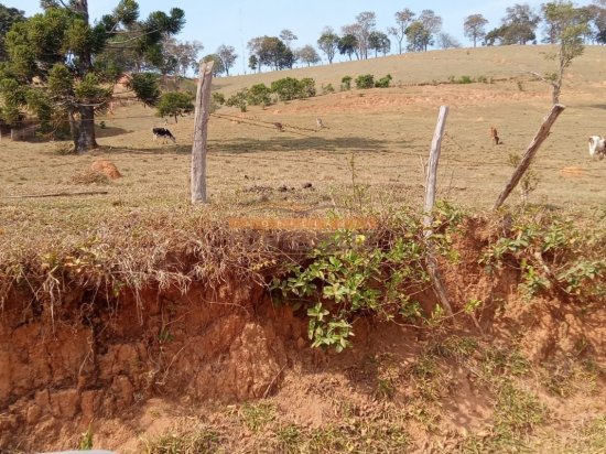
<svg viewBox="0 0 606 454"><path fill-rule="evenodd" d="M292 44L294 48L306 44L316 46L316 41L326 25L337 33L340 28L354 23L356 15L362 11L374 11L377 14L377 29L386 32L394 25L393 14L409 8L416 14L424 9L433 10L442 17L443 31L455 36L464 46L470 42L463 35L463 22L469 14L483 14L488 21L487 30L500 24L505 9L515 3L528 3L539 9L547 0L466 0L466 1L359 1L359 0L216 0L202 2L196 0L140 0L141 18L150 11L169 11L178 7L185 11L186 24L177 35L180 41L197 40L204 45L201 56L214 53L221 44L231 45L238 55L247 54L246 44L255 36L278 36L283 29L291 30L299 39ZM19 8L26 15L40 12L39 0L0 0L7 7ZM117 1L89 0L89 12L93 19L109 12ZM580 1L577 4L587 4ZM242 48L244 47L244 48ZM397 43L392 39L392 52L397 52ZM248 54L247 54L248 56ZM324 55L321 53L324 58ZM242 61L238 58L232 74L242 74ZM248 72L249 69L246 68Z"/></svg>

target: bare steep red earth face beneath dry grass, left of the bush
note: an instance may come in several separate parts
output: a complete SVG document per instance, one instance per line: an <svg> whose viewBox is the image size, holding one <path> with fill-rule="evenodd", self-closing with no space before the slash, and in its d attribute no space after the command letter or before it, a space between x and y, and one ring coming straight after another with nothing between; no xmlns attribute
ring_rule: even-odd
<svg viewBox="0 0 606 454"><path fill-rule="evenodd" d="M11 304L0 324L4 447L47 447L41 442L68 440L152 396L268 396L288 365L284 343L306 345L303 321L272 307L259 288L150 290L113 307L73 294L54 314L19 292L11 298L22 305Z"/></svg>

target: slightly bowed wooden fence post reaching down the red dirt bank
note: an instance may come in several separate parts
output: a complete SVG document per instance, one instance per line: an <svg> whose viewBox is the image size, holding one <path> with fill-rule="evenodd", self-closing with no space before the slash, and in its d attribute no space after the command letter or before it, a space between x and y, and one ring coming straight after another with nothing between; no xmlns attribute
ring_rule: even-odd
<svg viewBox="0 0 606 454"><path fill-rule="evenodd" d="M435 247L432 239L432 223L433 223L433 204L435 203L435 185L437 181L437 163L440 162L440 152L442 150L442 138L444 137L444 128L446 126L446 117L448 116L448 106L440 107L440 115L437 116L437 125L435 126L435 132L433 133L433 140L430 151L430 161L428 163L428 174L425 180L425 215L423 217L423 227L425 233L425 239L428 241L428 270L435 290L435 294L440 299L442 307L446 312L446 315L452 316L453 310L448 302L448 294L446 288L442 282L440 269L437 267L437 260L435 259Z"/></svg>

